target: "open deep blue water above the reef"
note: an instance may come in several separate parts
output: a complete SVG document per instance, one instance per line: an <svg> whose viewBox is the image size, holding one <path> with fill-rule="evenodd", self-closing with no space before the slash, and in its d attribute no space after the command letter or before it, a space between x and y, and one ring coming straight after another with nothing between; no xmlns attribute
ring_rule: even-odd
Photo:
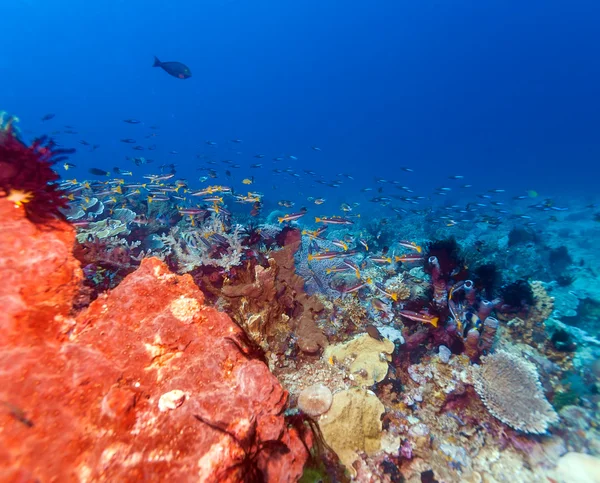
<svg viewBox="0 0 600 483"><path fill-rule="evenodd" d="M157 164L177 162L189 178L196 154L234 156L227 140L241 138L244 165L293 154L282 168L362 178L345 196L375 176L420 192L457 173L482 190L596 193L597 0L20 0L1 10L0 108L35 133L74 125L65 145L100 144L79 150L78 177L131 168L124 156L140 153L123 137L155 142ZM193 77L153 69L153 55ZM48 112L56 118L42 123ZM160 136L143 139L152 124ZM273 183L266 168L259 187Z"/></svg>

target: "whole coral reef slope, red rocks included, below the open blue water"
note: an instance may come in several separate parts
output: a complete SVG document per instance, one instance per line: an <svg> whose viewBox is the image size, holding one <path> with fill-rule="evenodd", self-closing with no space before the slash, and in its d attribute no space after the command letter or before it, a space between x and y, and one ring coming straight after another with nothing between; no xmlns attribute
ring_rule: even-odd
<svg viewBox="0 0 600 483"><path fill-rule="evenodd" d="M9 478L568 483L597 466L598 264L555 225L486 211L502 190L311 217L244 194L254 175L60 180L52 141L2 126Z"/></svg>

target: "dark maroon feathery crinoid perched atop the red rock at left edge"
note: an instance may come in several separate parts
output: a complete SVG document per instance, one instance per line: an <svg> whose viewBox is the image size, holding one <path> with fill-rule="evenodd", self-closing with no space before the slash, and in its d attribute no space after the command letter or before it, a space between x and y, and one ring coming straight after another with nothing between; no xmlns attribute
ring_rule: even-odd
<svg viewBox="0 0 600 483"><path fill-rule="evenodd" d="M0 197L24 209L34 223L64 219L68 199L54 182L59 179L52 166L72 150L56 149L52 140L36 139L27 146L21 141L13 119L0 125Z"/></svg>

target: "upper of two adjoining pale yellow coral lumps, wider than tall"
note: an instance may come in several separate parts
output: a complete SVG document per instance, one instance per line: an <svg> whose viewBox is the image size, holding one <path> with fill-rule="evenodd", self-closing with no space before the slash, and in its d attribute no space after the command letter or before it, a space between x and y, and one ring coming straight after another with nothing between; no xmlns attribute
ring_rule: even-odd
<svg viewBox="0 0 600 483"><path fill-rule="evenodd" d="M394 348L394 343L388 339L379 341L362 334L343 344L327 347L323 358L346 365L359 385L372 386L385 379Z"/></svg>

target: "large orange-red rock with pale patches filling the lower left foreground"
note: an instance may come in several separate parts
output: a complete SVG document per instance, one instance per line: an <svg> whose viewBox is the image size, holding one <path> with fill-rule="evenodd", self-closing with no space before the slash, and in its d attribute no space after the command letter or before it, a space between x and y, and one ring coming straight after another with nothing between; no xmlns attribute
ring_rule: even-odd
<svg viewBox="0 0 600 483"><path fill-rule="evenodd" d="M21 234L27 228L13 223ZM53 256L44 258L39 235L30 234L22 239L38 243L27 252L35 270L62 273L55 263L69 259L57 253L68 253L68 244L50 238ZM64 311L73 292L66 274L42 274L55 284L49 292L61 295L52 310ZM297 480L308 454L285 425L287 393L249 355L242 330L203 301L191 276L149 258L81 312L67 340L53 333L5 340L0 474L10 481Z"/></svg>

